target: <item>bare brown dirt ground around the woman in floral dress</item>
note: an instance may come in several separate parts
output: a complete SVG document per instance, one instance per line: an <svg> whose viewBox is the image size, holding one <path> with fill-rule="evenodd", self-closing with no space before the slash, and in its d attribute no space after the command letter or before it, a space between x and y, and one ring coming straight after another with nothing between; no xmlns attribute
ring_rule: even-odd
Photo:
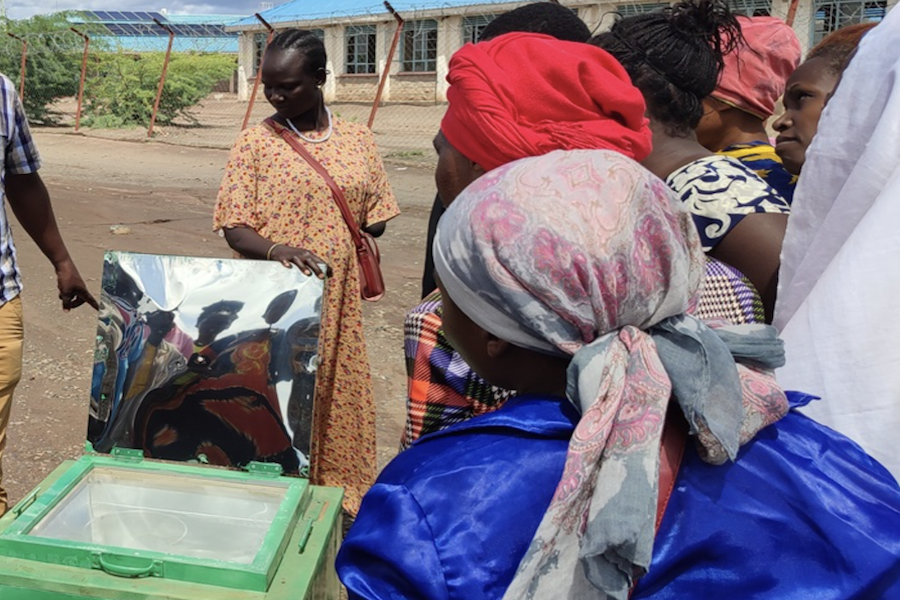
<svg viewBox="0 0 900 600"><path fill-rule="evenodd" d="M95 295L106 250L230 256L224 240L211 232L226 150L47 131L36 138L60 229ZM368 304L365 313L381 465L396 453L403 425L403 315L419 298L434 197L430 169L390 159L387 169L403 214L379 242L388 293ZM130 232L114 234L114 225L125 225ZM61 461L82 452L96 331L93 310L60 309L50 264L14 227L26 286L26 349L3 457L3 483L13 502Z"/></svg>

